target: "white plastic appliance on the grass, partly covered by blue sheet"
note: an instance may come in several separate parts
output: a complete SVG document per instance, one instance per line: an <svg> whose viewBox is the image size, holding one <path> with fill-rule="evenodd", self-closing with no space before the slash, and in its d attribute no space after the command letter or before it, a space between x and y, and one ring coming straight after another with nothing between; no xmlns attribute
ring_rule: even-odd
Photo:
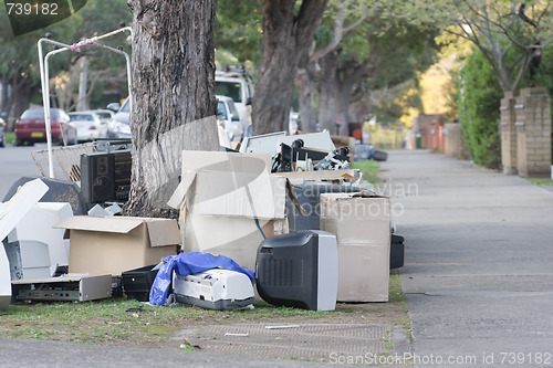
<svg viewBox="0 0 553 368"><path fill-rule="evenodd" d="M188 276L173 276L177 302L216 311L253 304L253 285L246 274L213 269Z"/></svg>

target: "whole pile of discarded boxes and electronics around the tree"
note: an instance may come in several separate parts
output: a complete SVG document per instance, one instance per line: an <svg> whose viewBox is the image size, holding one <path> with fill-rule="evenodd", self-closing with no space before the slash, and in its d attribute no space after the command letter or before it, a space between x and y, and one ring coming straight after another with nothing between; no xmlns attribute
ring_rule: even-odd
<svg viewBox="0 0 553 368"><path fill-rule="evenodd" d="M212 309L386 302L404 240L345 143L276 133L240 151L185 150L166 199L178 219L121 214L128 153L83 155L81 186L22 178L0 203L0 309L123 294Z"/></svg>

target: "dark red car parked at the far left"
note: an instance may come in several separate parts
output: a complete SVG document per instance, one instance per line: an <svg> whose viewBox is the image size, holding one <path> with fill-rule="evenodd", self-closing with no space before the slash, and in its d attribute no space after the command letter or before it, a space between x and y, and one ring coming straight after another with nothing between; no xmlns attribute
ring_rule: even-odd
<svg viewBox="0 0 553 368"><path fill-rule="evenodd" d="M70 117L60 108L50 109L50 126L52 141L56 144L76 144L76 129L70 124ZM44 123L44 109L28 109L15 122L15 145L25 143L34 145L38 141L46 141L46 126Z"/></svg>

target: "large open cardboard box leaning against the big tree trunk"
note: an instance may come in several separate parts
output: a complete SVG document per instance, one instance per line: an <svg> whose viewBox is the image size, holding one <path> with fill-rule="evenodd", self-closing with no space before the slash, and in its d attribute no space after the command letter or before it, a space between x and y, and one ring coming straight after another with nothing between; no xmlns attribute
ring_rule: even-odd
<svg viewBox="0 0 553 368"><path fill-rule="evenodd" d="M226 255L254 270L265 236L288 232L286 179L270 175L267 154L182 153L182 181L169 200L180 209L185 252Z"/></svg>

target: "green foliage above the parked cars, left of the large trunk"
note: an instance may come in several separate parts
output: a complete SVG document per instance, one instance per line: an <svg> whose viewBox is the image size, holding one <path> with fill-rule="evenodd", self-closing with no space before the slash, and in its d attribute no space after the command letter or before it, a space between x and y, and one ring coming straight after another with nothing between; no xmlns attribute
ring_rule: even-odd
<svg viewBox="0 0 553 368"><path fill-rule="evenodd" d="M2 6L0 7L0 18L4 20L4 17L6 8ZM88 1L74 15L45 29L19 36L11 36L10 24L6 19L6 21L0 22L0 81L9 83L14 90L19 85L28 85L29 90L27 93L31 95L25 96L25 98L31 101L34 94L39 92L40 86L36 42L46 32L55 41L73 44L82 39L116 30L121 27L121 22L128 23L131 19L126 0ZM125 51L129 52L131 48L126 42L126 36L127 34L114 36L105 41L105 43L112 46L122 45ZM50 50L49 46L45 48L45 52ZM97 85L94 88L95 94L91 96L93 101L92 105L105 106L105 103L113 97L105 97L103 95L104 84L123 71L124 81L119 83L126 85L125 61L123 56L101 50L100 48L82 48L79 53L66 52L52 57L50 61L50 75L52 77L67 78L71 66L83 55L86 55L88 59L88 75L91 80L97 81ZM74 95L77 85L79 83L65 83L64 86L66 88L72 86L74 90L58 92L65 96ZM54 95L56 91L52 92ZM3 103L7 104L7 102Z"/></svg>

